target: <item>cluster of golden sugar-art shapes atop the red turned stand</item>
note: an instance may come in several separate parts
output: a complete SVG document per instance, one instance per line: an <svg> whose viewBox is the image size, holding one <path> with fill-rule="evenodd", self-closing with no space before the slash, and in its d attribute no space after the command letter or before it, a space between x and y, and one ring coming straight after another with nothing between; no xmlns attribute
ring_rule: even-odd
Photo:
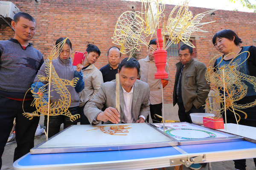
<svg viewBox="0 0 256 170"><path fill-rule="evenodd" d="M165 17L164 9L165 3L160 0L142 0L141 11L125 11L120 15L112 39L114 44L121 46L120 52L122 54L129 54L130 58L136 50L140 50L142 45L148 47L153 35L156 36L156 29L159 28L161 21L163 21L162 37L164 35L169 37L166 45L164 44L164 50L179 41L195 48L189 42L191 34L195 31L207 32L201 30L201 26L215 22L200 23L206 14L216 11L216 9L193 17L192 11L189 11L188 2L185 1L182 5L175 6L172 9L165 26L163 20L163 17ZM152 50L155 51L155 49Z"/></svg>

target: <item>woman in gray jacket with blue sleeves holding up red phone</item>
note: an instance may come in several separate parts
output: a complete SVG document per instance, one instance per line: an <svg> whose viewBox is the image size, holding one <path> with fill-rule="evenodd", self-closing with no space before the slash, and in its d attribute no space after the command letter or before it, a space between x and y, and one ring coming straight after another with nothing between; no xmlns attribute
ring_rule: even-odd
<svg viewBox="0 0 256 170"><path fill-rule="evenodd" d="M65 38L59 38L55 42L55 45L57 45L63 40L65 40ZM67 89L70 92L70 98L71 98L70 107L68 108L68 111L70 111L72 115L75 115L75 114L79 114L79 111L80 111L79 110L79 92L84 89L84 79L81 72L83 65L78 64L77 66L74 66L72 59L70 58L71 54L72 54L72 44L70 40L67 39L64 47L60 51L60 55L58 56L58 58L52 60L52 65L54 66L54 69L60 79L72 80L75 77L79 78L79 81L77 82L75 87L67 86ZM35 77L34 84L33 84L34 86L36 85L35 89L38 89L42 85L47 83L47 82L38 82L39 81L38 75L46 76L45 68L46 68L46 65L44 63L40 68L40 70L38 71L37 76ZM52 89L54 89L54 86L51 85L51 90ZM58 94L58 92L55 90L51 91L50 102L58 102L59 99L61 99L60 94ZM77 122L79 122L79 119L76 119L75 121L71 122L70 118L64 115L49 116L48 137L50 138L51 136L54 136L56 133L58 133L60 131L60 126L62 123L64 124L64 129L65 129L71 125L76 125ZM44 125L47 126L47 116L44 116Z"/></svg>

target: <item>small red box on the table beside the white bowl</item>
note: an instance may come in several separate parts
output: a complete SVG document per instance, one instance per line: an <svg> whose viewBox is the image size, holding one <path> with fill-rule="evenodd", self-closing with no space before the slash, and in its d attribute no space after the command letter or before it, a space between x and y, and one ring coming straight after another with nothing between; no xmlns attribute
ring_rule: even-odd
<svg viewBox="0 0 256 170"><path fill-rule="evenodd" d="M222 118L218 117L204 117L204 126L212 129L224 129L224 122Z"/></svg>

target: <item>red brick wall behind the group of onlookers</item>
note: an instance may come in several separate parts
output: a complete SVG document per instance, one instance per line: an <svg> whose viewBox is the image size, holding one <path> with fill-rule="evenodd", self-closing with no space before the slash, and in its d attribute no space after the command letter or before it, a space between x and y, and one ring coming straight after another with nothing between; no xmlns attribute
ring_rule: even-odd
<svg viewBox="0 0 256 170"><path fill-rule="evenodd" d="M37 32L32 39L35 48L38 48L44 57L49 55L55 41L59 37L69 37L73 44L73 51L85 51L88 42L93 43L102 51L96 62L101 68L107 64L106 53L113 46L111 37L116 20L124 11L141 9L141 3L122 0L12 0L20 11L31 14L37 22ZM166 5L166 20L172 11L172 5ZM208 11L207 8L191 7L194 15ZM239 11L215 11L215 15L207 14L201 22L216 21L205 25L202 29L209 32L195 32L196 59L206 65L212 57L219 54L213 48L212 36L221 29L232 29L237 32L243 45L256 45L256 13ZM167 23L167 21L166 21ZM14 37L14 31L7 25L0 25L0 40ZM138 59L146 57L146 47L143 46L137 53ZM126 55L122 55L126 57ZM172 91L175 79L175 63L177 57L168 57L170 82L164 88L165 102L172 102Z"/></svg>

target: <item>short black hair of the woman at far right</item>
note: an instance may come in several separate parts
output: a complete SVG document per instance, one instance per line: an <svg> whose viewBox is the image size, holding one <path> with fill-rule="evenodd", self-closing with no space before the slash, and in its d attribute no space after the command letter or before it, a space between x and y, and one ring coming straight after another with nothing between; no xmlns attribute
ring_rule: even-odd
<svg viewBox="0 0 256 170"><path fill-rule="evenodd" d="M240 43L242 43L241 38L239 38L238 35L234 31L232 31L230 29L223 29L221 31L218 31L216 34L214 34L214 36L212 37L213 45L215 45L217 37L218 38L227 38L230 41L233 41L233 39L235 37L234 43L236 45L239 45Z"/></svg>

